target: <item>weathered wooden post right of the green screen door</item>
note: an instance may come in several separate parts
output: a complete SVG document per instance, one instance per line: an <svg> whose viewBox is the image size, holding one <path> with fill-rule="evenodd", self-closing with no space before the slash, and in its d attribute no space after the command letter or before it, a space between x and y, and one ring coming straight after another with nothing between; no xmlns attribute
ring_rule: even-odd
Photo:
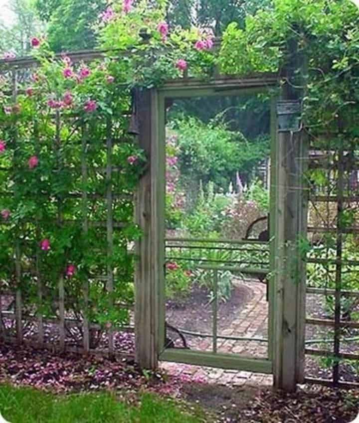
<svg viewBox="0 0 359 423"><path fill-rule="evenodd" d="M285 69L286 85L282 100L298 101L297 70L303 65L293 42L289 46L290 63ZM275 386L294 391L304 380L305 340L305 263L299 241L306 238L307 201L304 170L307 145L303 131L281 129L277 138L276 170L276 315L275 315Z"/></svg>

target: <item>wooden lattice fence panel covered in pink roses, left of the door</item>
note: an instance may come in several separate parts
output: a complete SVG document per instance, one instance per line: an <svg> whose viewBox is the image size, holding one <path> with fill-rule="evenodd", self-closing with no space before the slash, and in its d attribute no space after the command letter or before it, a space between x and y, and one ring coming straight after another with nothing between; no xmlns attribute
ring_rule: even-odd
<svg viewBox="0 0 359 423"><path fill-rule="evenodd" d="M7 140L0 156L7 264L0 273L0 336L59 351L132 354L126 331L141 169L128 160L137 148L127 131L130 92L111 91L115 113L99 107L87 116L43 105L17 113L35 72L35 63L26 62L1 75L0 107L11 104L14 117L0 124L0 139Z"/></svg>

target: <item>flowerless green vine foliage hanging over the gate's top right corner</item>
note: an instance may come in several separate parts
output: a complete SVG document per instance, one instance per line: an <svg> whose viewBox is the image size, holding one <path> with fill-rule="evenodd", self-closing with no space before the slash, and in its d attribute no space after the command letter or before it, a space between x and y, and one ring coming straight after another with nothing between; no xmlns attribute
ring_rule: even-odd
<svg viewBox="0 0 359 423"><path fill-rule="evenodd" d="M225 73L276 71L290 60L288 45L296 42L308 63L307 127L315 135L324 128L336 130L342 119L352 133L358 108L358 21L358 9L348 0L275 0L273 9L248 16L245 29L228 25L219 63Z"/></svg>

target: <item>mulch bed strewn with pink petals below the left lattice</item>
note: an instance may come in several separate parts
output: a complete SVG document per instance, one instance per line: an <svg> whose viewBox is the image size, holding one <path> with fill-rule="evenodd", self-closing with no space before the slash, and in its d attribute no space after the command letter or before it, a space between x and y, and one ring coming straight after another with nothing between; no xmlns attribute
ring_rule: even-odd
<svg viewBox="0 0 359 423"><path fill-rule="evenodd" d="M0 382L12 385L58 393L116 389L130 394L140 388L172 393L165 379L166 375L160 373L144 375L131 359L53 355L48 350L0 345Z"/></svg>

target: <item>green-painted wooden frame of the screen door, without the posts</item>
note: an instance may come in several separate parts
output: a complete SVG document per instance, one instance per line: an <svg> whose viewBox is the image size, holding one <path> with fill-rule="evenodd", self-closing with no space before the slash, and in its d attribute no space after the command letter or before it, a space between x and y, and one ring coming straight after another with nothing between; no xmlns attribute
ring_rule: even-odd
<svg viewBox="0 0 359 423"><path fill-rule="evenodd" d="M242 81L232 80L226 81L225 85L217 86L215 84L190 84L182 85L179 87L165 86L162 89L158 89L158 125L159 125L159 140L157 142L157 156L161 158L158 161L158 207L159 207L159 216L161 216L160 225L165 225L165 180L166 180L166 161L165 161L165 147L166 147L166 113L165 105L167 99L176 99L176 98L194 98L194 97L211 97L211 96L240 96L240 95L250 95L258 93L270 93L270 90L273 91L273 85L277 84L277 81L272 81L273 85L265 84L261 80L255 81L256 84L250 83L245 84ZM257 85L258 84L258 85ZM251 86L255 85L255 86ZM275 86L275 85L274 85ZM276 163L276 113L275 113L275 104L276 97L271 94L272 105L271 105L271 160L272 166L271 169L275 169ZM274 164L274 166L273 166ZM272 186L275 186L275 171L271 171L271 189L270 189L270 204L271 204L271 213L270 213L270 238L274 239L275 234L275 189ZM245 370L251 372L259 373L272 373L273 372L273 339L274 339L274 309L275 309L275 295L274 295L274 279L273 276L269 278L269 316L268 316L268 358L244 358L236 354L224 354L224 353L213 353L213 352L200 352L200 351L191 351L184 349L176 348L167 348L165 349L165 228L161 228L160 233L162 234L162 239L158 241L161 243L159 250L162 251L158 256L159 263L158 269L163 269L163 272L158 276L158 288L159 288L159 359L164 361L173 361L194 365L203 365L211 367L220 367L227 369L236 369L236 370ZM271 242L271 254L270 257L274 257L275 243ZM271 259L270 267L273 269L275 266L275 261ZM270 273L274 275L273 272Z"/></svg>

